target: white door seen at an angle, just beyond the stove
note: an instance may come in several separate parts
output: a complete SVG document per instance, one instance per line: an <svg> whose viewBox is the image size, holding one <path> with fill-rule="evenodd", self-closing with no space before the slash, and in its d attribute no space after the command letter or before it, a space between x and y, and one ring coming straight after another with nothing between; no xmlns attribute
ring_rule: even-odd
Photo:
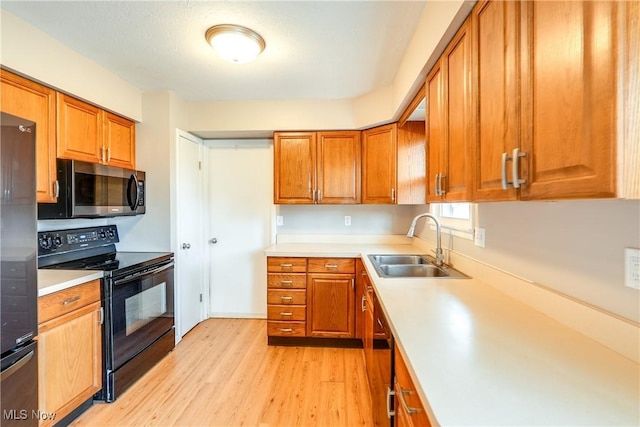
<svg viewBox="0 0 640 427"><path fill-rule="evenodd" d="M181 338L201 322L205 314L202 141L178 132L177 165L176 334Z"/></svg>

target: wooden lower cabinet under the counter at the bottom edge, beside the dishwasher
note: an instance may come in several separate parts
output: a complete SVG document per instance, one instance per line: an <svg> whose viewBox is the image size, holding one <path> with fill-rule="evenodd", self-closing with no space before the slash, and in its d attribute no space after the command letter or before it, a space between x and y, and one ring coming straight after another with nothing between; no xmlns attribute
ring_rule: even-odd
<svg viewBox="0 0 640 427"><path fill-rule="evenodd" d="M431 422L422 405L407 365L396 345L395 351L395 421L397 427L430 427Z"/></svg>

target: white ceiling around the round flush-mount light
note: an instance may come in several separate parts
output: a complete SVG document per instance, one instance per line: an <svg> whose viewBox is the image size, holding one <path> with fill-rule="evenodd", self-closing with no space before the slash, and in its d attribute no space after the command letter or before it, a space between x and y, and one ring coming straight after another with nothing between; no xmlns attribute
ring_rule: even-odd
<svg viewBox="0 0 640 427"><path fill-rule="evenodd" d="M0 6L142 90L189 101L343 99L390 85L425 1L7 1ZM219 59L223 23L257 31L256 61Z"/></svg>

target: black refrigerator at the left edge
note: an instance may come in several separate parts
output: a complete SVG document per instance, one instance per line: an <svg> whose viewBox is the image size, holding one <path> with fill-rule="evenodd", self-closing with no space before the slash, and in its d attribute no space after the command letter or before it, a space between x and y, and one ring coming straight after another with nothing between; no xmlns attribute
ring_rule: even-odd
<svg viewBox="0 0 640 427"><path fill-rule="evenodd" d="M38 425L35 124L1 113L0 425Z"/></svg>

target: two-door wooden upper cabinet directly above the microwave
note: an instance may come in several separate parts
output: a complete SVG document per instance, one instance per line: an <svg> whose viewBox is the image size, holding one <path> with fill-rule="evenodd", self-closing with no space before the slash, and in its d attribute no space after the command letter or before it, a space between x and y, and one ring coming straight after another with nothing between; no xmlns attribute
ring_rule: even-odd
<svg viewBox="0 0 640 427"><path fill-rule="evenodd" d="M134 122L58 93L58 157L135 168Z"/></svg>

